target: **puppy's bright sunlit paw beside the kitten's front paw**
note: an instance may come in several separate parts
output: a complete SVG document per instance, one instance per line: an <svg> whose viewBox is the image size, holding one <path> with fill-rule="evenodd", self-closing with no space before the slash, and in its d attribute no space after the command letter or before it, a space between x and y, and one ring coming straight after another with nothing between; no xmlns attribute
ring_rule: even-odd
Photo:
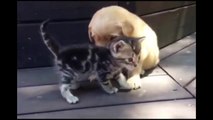
<svg viewBox="0 0 213 120"><path fill-rule="evenodd" d="M140 77L131 77L127 80L127 83L131 86L132 89L141 88L141 79Z"/></svg>

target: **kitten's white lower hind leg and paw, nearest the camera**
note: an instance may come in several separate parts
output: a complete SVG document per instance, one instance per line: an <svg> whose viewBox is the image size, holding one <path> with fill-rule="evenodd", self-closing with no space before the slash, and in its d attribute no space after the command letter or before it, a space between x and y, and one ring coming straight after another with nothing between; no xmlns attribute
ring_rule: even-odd
<svg viewBox="0 0 213 120"><path fill-rule="evenodd" d="M60 91L61 91L61 95L66 99L66 101L68 103L77 103L79 101L78 97L74 96L71 92L70 92L70 84L64 84L62 83L60 85Z"/></svg>

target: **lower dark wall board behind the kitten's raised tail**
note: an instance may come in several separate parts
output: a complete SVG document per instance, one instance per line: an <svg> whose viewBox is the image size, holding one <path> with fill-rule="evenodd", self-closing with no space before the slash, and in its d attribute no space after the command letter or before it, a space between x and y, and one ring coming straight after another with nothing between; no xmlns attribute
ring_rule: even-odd
<svg viewBox="0 0 213 120"><path fill-rule="evenodd" d="M54 22L49 33L62 45L88 43L89 21ZM53 65L53 55L44 45L39 34L40 24L18 25L18 68L48 67Z"/></svg>

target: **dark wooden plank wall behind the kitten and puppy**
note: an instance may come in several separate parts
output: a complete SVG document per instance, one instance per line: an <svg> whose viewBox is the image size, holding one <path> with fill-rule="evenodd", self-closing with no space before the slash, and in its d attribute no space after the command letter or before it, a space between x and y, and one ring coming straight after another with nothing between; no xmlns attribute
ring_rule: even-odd
<svg viewBox="0 0 213 120"><path fill-rule="evenodd" d="M194 1L18 1L17 68L53 65L53 56L39 35L43 20L54 20L48 30L62 45L85 43L92 15L109 5L123 6L139 15L157 33L160 48L196 31Z"/></svg>

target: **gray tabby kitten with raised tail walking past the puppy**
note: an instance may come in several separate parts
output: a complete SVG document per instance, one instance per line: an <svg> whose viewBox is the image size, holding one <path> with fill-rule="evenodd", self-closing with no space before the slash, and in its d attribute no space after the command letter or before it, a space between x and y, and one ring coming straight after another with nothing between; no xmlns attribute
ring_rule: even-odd
<svg viewBox="0 0 213 120"><path fill-rule="evenodd" d="M83 79L97 80L108 94L118 91L110 82L113 79L117 80L121 89L131 89L122 71L131 71L137 66L136 53L139 53L139 43L143 39L116 37L107 48L88 44L62 47L46 33L48 21L41 24L40 32L43 42L55 56L55 62L62 75L60 92L68 103L79 101L70 90L77 89L77 81Z"/></svg>

